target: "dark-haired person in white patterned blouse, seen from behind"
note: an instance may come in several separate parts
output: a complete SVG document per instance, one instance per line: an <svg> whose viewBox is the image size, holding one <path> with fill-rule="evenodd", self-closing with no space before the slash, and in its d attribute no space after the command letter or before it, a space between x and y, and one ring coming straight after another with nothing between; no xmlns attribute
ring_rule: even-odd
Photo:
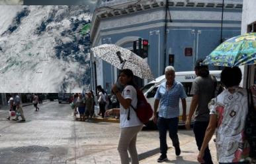
<svg viewBox="0 0 256 164"><path fill-rule="evenodd" d="M226 89L209 103L210 123L198 153L200 163L206 163L205 150L215 131L220 164L248 163L246 157L249 155L249 146L244 137L248 96L247 90L239 87L241 77L241 70L238 67L226 67L222 70L220 80Z"/></svg>

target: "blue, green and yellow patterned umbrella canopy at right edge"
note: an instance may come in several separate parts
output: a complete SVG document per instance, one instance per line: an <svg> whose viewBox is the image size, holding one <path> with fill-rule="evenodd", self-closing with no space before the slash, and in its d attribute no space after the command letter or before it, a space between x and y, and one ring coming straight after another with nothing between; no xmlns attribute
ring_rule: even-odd
<svg viewBox="0 0 256 164"><path fill-rule="evenodd" d="M206 57L203 64L223 67L256 64L256 33L224 41Z"/></svg>

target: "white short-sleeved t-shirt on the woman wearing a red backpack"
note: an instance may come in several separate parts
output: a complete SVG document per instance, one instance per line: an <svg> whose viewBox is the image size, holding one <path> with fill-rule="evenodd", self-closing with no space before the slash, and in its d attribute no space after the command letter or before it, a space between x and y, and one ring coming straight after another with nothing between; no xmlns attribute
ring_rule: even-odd
<svg viewBox="0 0 256 164"><path fill-rule="evenodd" d="M124 99L131 99L131 105L136 108L137 107L137 92L133 86L126 86L122 92L122 97ZM140 126L143 123L140 122L138 119L136 112L132 107L130 107L130 120L127 119L128 117L128 109L124 109L124 107L120 104L120 127L132 127L132 126Z"/></svg>

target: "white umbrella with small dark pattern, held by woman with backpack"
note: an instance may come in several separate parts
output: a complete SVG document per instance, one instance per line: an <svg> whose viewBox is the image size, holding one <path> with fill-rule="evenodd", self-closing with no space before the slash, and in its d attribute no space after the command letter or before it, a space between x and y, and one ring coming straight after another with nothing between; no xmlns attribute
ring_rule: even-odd
<svg viewBox="0 0 256 164"><path fill-rule="evenodd" d="M128 68L139 78L155 80L147 60L142 59L142 57L139 57L129 49L124 49L114 44L103 44L91 48L91 51L103 61L120 70Z"/></svg>

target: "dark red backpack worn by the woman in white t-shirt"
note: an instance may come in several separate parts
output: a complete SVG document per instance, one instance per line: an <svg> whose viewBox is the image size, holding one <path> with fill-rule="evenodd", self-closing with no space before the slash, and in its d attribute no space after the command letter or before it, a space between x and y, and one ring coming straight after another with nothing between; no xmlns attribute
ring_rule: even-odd
<svg viewBox="0 0 256 164"><path fill-rule="evenodd" d="M136 112L138 119L140 119L140 121L145 124L145 123L148 123L149 119L152 117L153 109L151 105L148 103L148 101L146 100L142 91L139 89L136 89L136 92L137 92L137 99L138 99L137 109L135 109L132 105L131 107ZM127 119L130 120L130 108L128 111Z"/></svg>

